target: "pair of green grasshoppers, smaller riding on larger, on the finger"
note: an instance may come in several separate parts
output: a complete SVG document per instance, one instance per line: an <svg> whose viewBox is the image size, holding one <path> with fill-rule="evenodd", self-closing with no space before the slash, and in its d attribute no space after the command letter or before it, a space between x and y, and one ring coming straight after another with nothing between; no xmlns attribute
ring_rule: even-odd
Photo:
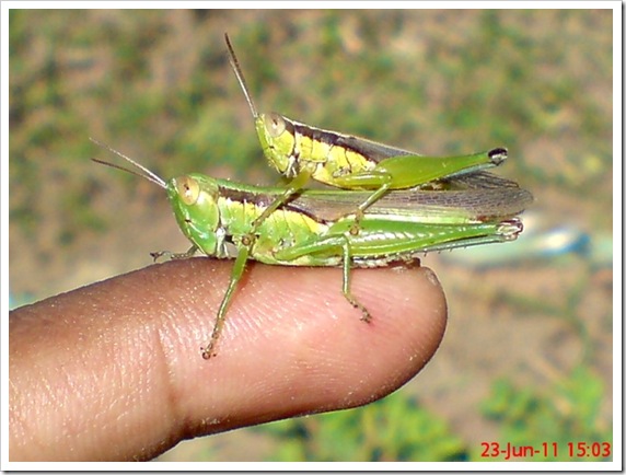
<svg viewBox="0 0 626 475"><path fill-rule="evenodd" d="M361 320L369 321L369 312L350 292L351 268L410 262L428 251L512 241L522 231L517 215L532 195L484 171L506 160L505 149L421 157L276 113L258 114L225 39L264 153L291 179L286 187L243 185L198 173L165 182L107 148L141 172L136 174L166 190L176 221L192 242L186 255L199 251L235 258L210 339L201 348L205 359L215 355L248 259L341 267L344 296L361 311ZM308 189L309 179L345 189Z"/></svg>

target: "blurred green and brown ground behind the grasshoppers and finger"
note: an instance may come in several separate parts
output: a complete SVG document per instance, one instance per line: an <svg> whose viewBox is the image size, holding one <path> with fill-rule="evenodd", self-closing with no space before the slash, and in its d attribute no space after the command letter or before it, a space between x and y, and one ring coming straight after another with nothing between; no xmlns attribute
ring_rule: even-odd
<svg viewBox="0 0 626 475"><path fill-rule="evenodd" d="M450 322L401 391L161 460L488 460L496 441L577 460L567 442L611 442L610 10L13 10L12 303L187 248L163 190L91 162L116 159L89 137L164 177L276 183L224 32L259 111L425 154L505 146L498 173L536 202L520 246L424 258Z"/></svg>

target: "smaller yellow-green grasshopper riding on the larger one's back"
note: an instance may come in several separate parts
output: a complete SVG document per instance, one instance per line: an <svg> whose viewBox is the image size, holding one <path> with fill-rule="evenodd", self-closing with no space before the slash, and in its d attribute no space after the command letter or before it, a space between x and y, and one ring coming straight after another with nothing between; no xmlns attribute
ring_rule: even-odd
<svg viewBox="0 0 626 475"><path fill-rule="evenodd" d="M507 150L459 157L426 157L351 135L311 127L275 112L257 113L228 34L230 62L255 121L270 166L290 182L258 222L302 189L309 179L345 189L371 190L357 204L357 218L390 190L431 186L433 182L497 166ZM358 227L357 227L358 228ZM353 229L355 232L356 229Z"/></svg>

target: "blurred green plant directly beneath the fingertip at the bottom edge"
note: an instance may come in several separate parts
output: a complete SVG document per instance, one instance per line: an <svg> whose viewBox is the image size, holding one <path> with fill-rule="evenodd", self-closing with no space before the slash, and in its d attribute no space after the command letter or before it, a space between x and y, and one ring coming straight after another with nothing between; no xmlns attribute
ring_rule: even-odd
<svg viewBox="0 0 626 475"><path fill-rule="evenodd" d="M467 450L445 421L403 392L367 407L274 422L271 461L462 461Z"/></svg>

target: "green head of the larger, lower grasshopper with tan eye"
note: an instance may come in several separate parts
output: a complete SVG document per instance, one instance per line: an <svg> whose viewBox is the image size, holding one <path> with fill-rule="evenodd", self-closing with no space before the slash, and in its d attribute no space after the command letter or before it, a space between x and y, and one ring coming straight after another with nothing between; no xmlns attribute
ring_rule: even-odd
<svg viewBox="0 0 626 475"><path fill-rule="evenodd" d="M211 178L189 174L167 183L167 198L183 233L207 255L217 255L220 227L219 187Z"/></svg>

